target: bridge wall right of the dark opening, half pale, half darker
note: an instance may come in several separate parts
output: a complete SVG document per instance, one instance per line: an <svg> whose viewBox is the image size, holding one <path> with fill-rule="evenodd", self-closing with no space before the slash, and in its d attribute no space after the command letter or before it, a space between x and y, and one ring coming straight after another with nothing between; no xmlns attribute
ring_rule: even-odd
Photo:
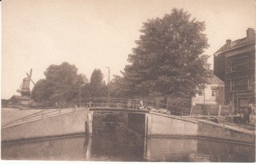
<svg viewBox="0 0 256 164"><path fill-rule="evenodd" d="M148 136L204 137L255 144L255 133L253 131L243 131L236 127L186 117L150 112L147 116L147 124Z"/></svg>

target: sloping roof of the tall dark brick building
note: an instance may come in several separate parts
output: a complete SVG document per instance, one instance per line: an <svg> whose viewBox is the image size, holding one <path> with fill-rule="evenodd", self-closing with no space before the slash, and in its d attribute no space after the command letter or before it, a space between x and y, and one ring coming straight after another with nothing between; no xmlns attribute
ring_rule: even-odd
<svg viewBox="0 0 256 164"><path fill-rule="evenodd" d="M252 30L254 32L253 29L248 29L248 30ZM231 40L229 40L231 41ZM230 46L228 48L228 40L227 40L227 43L225 45L223 45L219 50L217 50L214 54L220 54L221 52L225 51L225 50L228 50L230 48L236 48L236 47L239 47L241 45L246 45L247 43L250 43L250 42L253 42L255 41L255 36L254 37L248 37L246 36L246 38L242 38L242 39L239 39L239 40L235 40L235 41L231 41L230 42Z"/></svg>

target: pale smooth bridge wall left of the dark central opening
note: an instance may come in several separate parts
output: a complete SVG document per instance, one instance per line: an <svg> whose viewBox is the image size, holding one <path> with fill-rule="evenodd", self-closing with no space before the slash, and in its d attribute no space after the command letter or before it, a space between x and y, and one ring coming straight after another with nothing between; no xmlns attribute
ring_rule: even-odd
<svg viewBox="0 0 256 164"><path fill-rule="evenodd" d="M49 137L85 133L88 110L77 110L1 129L1 140Z"/></svg>

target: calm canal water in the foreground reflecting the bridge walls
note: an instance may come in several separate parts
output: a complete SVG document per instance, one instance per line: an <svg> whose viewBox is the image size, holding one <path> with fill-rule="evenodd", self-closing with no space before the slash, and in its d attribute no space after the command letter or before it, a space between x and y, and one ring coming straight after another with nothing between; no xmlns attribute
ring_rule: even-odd
<svg viewBox="0 0 256 164"><path fill-rule="evenodd" d="M134 133L2 144L2 160L254 162L255 146L199 138L144 138Z"/></svg>

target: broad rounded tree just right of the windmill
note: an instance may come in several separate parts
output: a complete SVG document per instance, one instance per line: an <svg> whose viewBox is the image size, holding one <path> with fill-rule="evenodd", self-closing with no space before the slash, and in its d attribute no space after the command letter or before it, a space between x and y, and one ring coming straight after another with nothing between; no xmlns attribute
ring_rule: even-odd
<svg viewBox="0 0 256 164"><path fill-rule="evenodd" d="M77 75L77 68L64 62L60 65L52 64L44 72L45 79L36 82L31 97L38 102L65 102L79 98L81 86L88 83L84 74Z"/></svg>

